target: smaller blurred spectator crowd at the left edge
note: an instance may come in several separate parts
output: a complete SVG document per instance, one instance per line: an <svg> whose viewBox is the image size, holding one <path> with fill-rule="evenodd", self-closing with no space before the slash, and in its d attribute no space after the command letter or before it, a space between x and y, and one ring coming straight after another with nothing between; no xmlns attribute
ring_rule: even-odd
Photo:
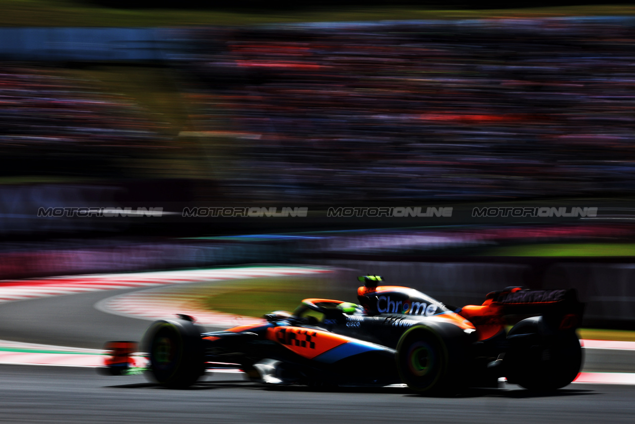
<svg viewBox="0 0 635 424"><path fill-rule="evenodd" d="M2 175L112 174L112 161L157 148L156 125L130 99L37 63L0 66Z"/></svg>

